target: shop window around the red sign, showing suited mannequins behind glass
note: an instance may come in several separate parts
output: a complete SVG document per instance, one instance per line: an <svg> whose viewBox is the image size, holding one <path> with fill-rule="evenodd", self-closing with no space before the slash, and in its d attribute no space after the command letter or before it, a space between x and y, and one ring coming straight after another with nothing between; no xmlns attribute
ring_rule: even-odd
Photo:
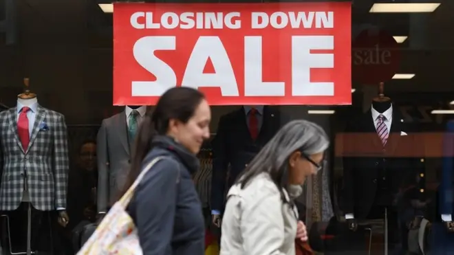
<svg viewBox="0 0 454 255"><path fill-rule="evenodd" d="M281 126L303 119L322 126L330 140L327 163L295 201L319 241L311 241L313 250L453 252L453 3L354 1L351 105L212 107L212 135L194 176L210 230L219 232L211 214L222 214L237 175ZM8 216L0 225L7 233L10 222L13 252L27 245L28 201L33 250L74 254L75 233L118 198L130 164L133 109L112 106L112 26L112 14L96 1L0 0L0 211ZM32 103L28 96L18 100L25 90L36 95ZM25 149L19 133L26 129L18 128L23 106L31 109ZM153 107L136 110L142 116ZM47 135L64 128L65 135ZM58 179L58 166L67 169L67 182ZM108 175L101 188L102 171ZM56 210L67 212L66 228L55 226Z"/></svg>

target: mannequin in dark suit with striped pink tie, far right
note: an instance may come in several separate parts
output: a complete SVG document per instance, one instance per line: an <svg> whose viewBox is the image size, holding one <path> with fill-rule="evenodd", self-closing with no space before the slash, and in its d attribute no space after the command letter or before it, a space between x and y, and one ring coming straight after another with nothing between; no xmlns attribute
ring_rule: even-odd
<svg viewBox="0 0 454 255"><path fill-rule="evenodd" d="M396 197L404 188L404 181L415 179L422 166L416 159L398 155L407 133L403 131L400 113L385 97L382 83L371 109L353 118L346 133L348 141L344 144L349 156L343 158L340 207L349 228L356 231L358 221L385 219L388 232L395 234L399 229Z"/></svg>

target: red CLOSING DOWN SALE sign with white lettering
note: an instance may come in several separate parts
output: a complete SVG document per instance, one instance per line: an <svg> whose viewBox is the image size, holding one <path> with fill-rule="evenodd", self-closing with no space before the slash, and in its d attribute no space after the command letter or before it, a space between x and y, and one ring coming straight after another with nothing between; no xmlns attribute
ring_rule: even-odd
<svg viewBox="0 0 454 255"><path fill-rule="evenodd" d="M114 3L114 104L351 104L351 3Z"/></svg>

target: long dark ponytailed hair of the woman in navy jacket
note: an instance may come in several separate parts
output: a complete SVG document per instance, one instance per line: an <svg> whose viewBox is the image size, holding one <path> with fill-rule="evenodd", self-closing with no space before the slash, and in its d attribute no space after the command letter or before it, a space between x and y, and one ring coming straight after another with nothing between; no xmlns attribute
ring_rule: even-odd
<svg viewBox="0 0 454 255"><path fill-rule="evenodd" d="M166 135L169 129L169 121L172 119L180 120L183 123L188 122L204 98L203 93L188 87L169 89L160 97L153 113L147 113L140 124L133 146L131 169L125 187L120 193L121 196L140 175L142 162L153 147L153 138L156 135Z"/></svg>

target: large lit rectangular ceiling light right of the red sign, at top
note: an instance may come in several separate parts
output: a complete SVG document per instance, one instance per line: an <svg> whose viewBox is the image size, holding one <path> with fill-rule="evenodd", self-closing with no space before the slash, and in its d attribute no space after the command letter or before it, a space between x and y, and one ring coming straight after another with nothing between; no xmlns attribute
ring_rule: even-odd
<svg viewBox="0 0 454 255"><path fill-rule="evenodd" d="M369 12L433 12L441 3L374 3Z"/></svg>

